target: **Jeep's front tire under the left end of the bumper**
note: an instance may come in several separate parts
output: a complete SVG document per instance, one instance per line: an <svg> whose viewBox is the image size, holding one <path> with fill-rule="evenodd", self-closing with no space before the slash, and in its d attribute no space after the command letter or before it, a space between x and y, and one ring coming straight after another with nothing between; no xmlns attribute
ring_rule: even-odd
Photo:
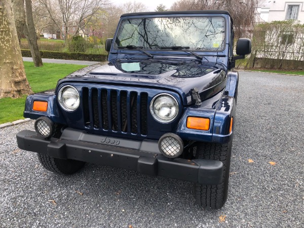
<svg viewBox="0 0 304 228"><path fill-rule="evenodd" d="M44 154L38 154L38 159L47 170L66 175L77 172L85 165L85 162L70 159L57 159Z"/></svg>

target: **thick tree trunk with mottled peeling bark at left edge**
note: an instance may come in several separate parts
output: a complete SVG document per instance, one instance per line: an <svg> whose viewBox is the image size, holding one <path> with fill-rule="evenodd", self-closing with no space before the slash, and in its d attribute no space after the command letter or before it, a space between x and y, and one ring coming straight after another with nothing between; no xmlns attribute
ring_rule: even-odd
<svg viewBox="0 0 304 228"><path fill-rule="evenodd" d="M30 94L14 23L11 0L0 1L0 98Z"/></svg>

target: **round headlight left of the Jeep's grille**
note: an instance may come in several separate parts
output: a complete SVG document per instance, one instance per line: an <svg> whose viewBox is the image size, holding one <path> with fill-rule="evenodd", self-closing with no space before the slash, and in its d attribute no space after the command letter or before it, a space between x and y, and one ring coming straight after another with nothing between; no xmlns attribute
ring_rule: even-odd
<svg viewBox="0 0 304 228"><path fill-rule="evenodd" d="M79 107L80 96L74 87L64 86L58 93L58 101L63 109L73 111Z"/></svg>

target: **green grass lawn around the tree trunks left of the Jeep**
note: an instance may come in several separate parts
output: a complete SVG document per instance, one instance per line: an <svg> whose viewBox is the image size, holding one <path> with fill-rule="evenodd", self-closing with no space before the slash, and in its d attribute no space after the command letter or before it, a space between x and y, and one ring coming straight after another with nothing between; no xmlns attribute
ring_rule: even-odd
<svg viewBox="0 0 304 228"><path fill-rule="evenodd" d="M44 63L34 67L32 62L24 62L27 80L34 93L53 89L57 81L67 74L85 67L84 65ZM23 119L26 96L0 99L0 124Z"/></svg>

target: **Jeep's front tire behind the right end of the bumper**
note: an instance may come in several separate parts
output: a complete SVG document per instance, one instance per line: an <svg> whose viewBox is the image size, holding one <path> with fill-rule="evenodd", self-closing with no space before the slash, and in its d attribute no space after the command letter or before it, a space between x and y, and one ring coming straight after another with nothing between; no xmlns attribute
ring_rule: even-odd
<svg viewBox="0 0 304 228"><path fill-rule="evenodd" d="M232 141L226 144L197 143L196 159L217 160L221 161L224 165L223 176L220 184L194 184L194 195L199 205L219 209L226 202L229 183L231 147Z"/></svg>

